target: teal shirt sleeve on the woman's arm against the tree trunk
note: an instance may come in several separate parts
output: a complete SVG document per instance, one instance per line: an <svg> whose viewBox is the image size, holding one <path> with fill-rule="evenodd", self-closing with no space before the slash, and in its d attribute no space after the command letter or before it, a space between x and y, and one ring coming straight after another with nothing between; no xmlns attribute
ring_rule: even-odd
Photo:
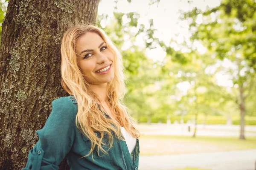
<svg viewBox="0 0 256 170"><path fill-rule="evenodd" d="M30 150L23 170L58 170L75 138L74 110L74 104L66 97L52 102L52 112L44 127L36 131L39 140Z"/></svg>

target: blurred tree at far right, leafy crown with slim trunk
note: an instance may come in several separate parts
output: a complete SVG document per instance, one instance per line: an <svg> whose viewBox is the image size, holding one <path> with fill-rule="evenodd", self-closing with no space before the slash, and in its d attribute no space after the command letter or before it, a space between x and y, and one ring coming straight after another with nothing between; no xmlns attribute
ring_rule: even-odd
<svg viewBox="0 0 256 170"><path fill-rule="evenodd" d="M200 41L212 55L236 65L228 70L238 93L233 97L240 109L240 139L244 137L246 98L255 86L256 70L256 2L222 0L220 6L201 11L194 8L181 18L189 23L191 40Z"/></svg>

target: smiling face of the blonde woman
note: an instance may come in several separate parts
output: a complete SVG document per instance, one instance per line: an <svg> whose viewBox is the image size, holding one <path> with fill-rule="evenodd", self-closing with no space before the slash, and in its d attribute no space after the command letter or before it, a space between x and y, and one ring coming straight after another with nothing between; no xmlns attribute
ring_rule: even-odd
<svg viewBox="0 0 256 170"><path fill-rule="evenodd" d="M79 37L76 45L78 65L88 83L99 85L114 78L114 56L102 38L93 32Z"/></svg>

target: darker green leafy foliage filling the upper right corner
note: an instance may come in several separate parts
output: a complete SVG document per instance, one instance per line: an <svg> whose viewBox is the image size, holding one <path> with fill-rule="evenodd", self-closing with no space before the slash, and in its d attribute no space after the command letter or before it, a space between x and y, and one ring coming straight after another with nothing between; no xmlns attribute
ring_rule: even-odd
<svg viewBox="0 0 256 170"><path fill-rule="evenodd" d="M222 0L221 5L206 11L194 8L181 15L189 22L192 40L201 40L221 59L234 60L236 54L256 68L256 2ZM202 22L197 21L202 18Z"/></svg>

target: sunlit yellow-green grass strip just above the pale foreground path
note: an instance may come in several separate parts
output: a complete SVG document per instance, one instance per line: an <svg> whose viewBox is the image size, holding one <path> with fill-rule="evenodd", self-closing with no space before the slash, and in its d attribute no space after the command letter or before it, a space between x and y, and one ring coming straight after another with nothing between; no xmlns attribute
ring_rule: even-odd
<svg viewBox="0 0 256 170"><path fill-rule="evenodd" d="M256 136L239 140L238 137L142 135L140 155L204 153L256 149Z"/></svg>

